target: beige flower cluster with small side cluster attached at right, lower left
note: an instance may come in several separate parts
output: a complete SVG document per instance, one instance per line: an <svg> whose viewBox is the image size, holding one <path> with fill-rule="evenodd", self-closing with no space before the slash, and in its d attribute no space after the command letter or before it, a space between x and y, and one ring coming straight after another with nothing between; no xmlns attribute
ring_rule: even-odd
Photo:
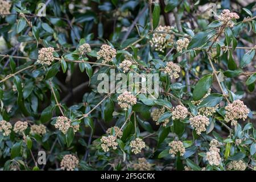
<svg viewBox="0 0 256 182"><path fill-rule="evenodd" d="M59 129L62 133L66 134L68 129L70 127L73 127L74 133L79 130L79 125L73 126L71 123L71 119L64 117L64 116L59 116L56 119L56 123L54 125L56 129Z"/></svg>

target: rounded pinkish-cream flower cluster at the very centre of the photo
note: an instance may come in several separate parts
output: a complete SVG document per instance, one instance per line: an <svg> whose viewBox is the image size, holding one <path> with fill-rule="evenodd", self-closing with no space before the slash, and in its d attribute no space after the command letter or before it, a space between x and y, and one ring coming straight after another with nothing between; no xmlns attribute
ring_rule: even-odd
<svg viewBox="0 0 256 182"><path fill-rule="evenodd" d="M137 99L136 99L135 96L133 96L133 94L131 94L130 92L125 91L117 97L117 101L118 101L118 105L123 110L127 110L127 109L130 109L131 106L136 104Z"/></svg>

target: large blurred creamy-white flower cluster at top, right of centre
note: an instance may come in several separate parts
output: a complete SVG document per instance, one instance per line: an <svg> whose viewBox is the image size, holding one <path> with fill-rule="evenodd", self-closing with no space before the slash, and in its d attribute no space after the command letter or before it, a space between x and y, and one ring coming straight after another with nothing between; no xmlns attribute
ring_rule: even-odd
<svg viewBox="0 0 256 182"><path fill-rule="evenodd" d="M164 49L174 42L175 37L170 34L171 28L170 26L159 26L150 40L151 47L154 47L156 51L164 52Z"/></svg>

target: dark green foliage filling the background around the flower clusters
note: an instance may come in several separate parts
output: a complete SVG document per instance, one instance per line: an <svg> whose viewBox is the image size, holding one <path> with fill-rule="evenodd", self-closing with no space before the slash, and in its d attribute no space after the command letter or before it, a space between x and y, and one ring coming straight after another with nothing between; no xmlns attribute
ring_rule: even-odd
<svg viewBox="0 0 256 182"><path fill-rule="evenodd" d="M152 169L183 169L184 166L189 166L193 169L205 167L204 152L207 151L207 144L212 137L224 142L229 138L229 131L217 122L220 114L215 115L212 119L214 124L207 131L207 134L202 135L199 139L192 135L192 130L186 125L185 132L181 135L184 141L189 141L188 151L185 158L170 158L168 155L168 142L173 139L171 127L160 127L155 125L150 117L150 109L152 106L144 105L143 102L138 102L133 107L137 115L137 126L134 131L134 117L131 117L129 125L125 126L127 138L123 138L124 146L122 150L117 150L114 154L105 154L95 145L92 145L94 140L100 141L99 138L105 134L106 129L114 125L121 127L127 113L123 112L117 105L117 94L112 96L110 104L104 101L97 109L95 109L89 118L80 121L80 131L75 134L72 143L65 142L65 136L60 134L51 122L60 115L59 107L56 105L56 100L53 93L56 94L57 101L64 108L65 114L71 118L79 118L81 114L87 113L98 102L102 101L104 96L95 91L97 82L97 74L105 72L106 67L98 67L96 64L72 63L79 59L72 52L79 46L81 39L89 43L93 52L88 56L89 60L95 62L96 51L100 49L103 43L112 43L117 50L127 48L134 57L138 55L146 67L154 67L159 60L166 62L167 60L179 62L183 67L182 77L177 81L170 81L171 93L181 98L184 104L192 100L193 89L196 83L203 75L212 72L205 51L187 52L188 57L182 59L181 54L176 52L176 49L171 47L166 49L164 53L154 51L150 47L149 40L152 35L151 20L158 24L158 10L160 12L159 24L174 26L175 39L188 36L191 40L197 32L205 32L209 30L217 30L220 24L212 24L216 18L207 15L208 1L159 1L153 3L152 11L156 6L155 15L151 18L148 1L47 1L46 17L38 17L35 15L36 6L39 2L36 1L11 1L11 14L0 18L0 78L5 80L12 73L29 66L35 65L35 60L38 57L38 50L42 47L54 47L56 56L67 58L67 63L57 63L51 67L46 67L46 71L40 65L32 66L26 71L19 72L10 79L1 81L0 100L1 113L0 119L5 119L11 123L16 121L32 121L34 123L43 123L47 126L47 134L43 137L31 136L32 138L32 153L36 156L39 150L47 151L47 165L39 166L40 169L59 169L59 163L64 154L75 154L80 159L79 169L131 169L128 164L138 156L143 156L150 162ZM254 110L255 108L255 74L243 75L243 73L255 72L255 56L250 60L244 60L243 56L246 52L253 50L255 46L255 2L254 1L213 1L218 6L218 13L222 9L232 10L240 15L240 22L232 29L232 34L221 34L218 39L220 45L226 45L233 48L228 48L229 51L221 52L217 56L217 71L221 74L218 76L222 81L222 86L226 90L230 90L230 101L236 98L242 99L251 112L246 122L241 122L241 129L236 130L236 133L242 132L242 139L245 141L241 147L236 147L232 142L237 138L233 135L226 143L232 143L229 149L228 156L225 156L224 163L230 160L245 160L250 169L255 166L255 126ZM24 16L19 15L23 13ZM153 13L154 14L154 13ZM249 20L242 22L244 18L249 16ZM28 22L31 22L31 27ZM136 26L135 26L136 24ZM180 30L179 26L182 26ZM155 27L154 27L155 28ZM139 33L138 33L139 31ZM212 34L207 33L205 36L199 36L194 48L209 47L212 42ZM205 39L204 39L205 38ZM208 39L209 38L209 39ZM249 47L247 49L235 48L234 39L237 40L237 47ZM139 48L135 48L135 43L138 42ZM233 42L232 42L233 40ZM132 45L132 46L131 46ZM171 52L170 52L171 50ZM196 54L195 54L196 53ZM164 57L168 54L167 57ZM11 55L11 56L3 56ZM29 59L19 59L23 56ZM58 57L59 57L58 56ZM230 57L233 57L230 60ZM117 63L123 59L122 52L118 53ZM137 59L137 56L136 56ZM242 60L246 62L245 67L241 67ZM56 61L57 62L57 61ZM139 71L139 69L138 69ZM188 82L185 77L189 78L192 92L189 92ZM251 76L252 75L252 76ZM251 76L251 77L250 77ZM250 77L251 80L248 81ZM162 76L163 85L166 84L165 76ZM52 84L52 89L51 89ZM13 90L13 85L16 90ZM216 80L213 79L212 90L214 93L221 93ZM166 98L172 105L177 105L177 102L171 97ZM225 102L223 100L223 102ZM156 104L158 105L158 104ZM163 104L159 104L163 105ZM188 105L187 105L188 106ZM195 109L193 106L190 107ZM113 110L116 115L112 116ZM246 125L246 123L248 123ZM172 125L172 124L171 124ZM246 125L246 127L244 127ZM240 125L239 125L240 126ZM234 130L232 128L232 130ZM29 132L27 131L27 134ZM129 149L129 141L134 133L145 137L147 150L140 155L132 155ZM168 137L167 137L168 135ZM130 138L129 138L130 137ZM31 154L26 143L20 143L20 136L11 134L10 138L0 137L0 167L1 169L10 170L13 166L18 165L20 169L32 169L34 163L31 159ZM15 148L18 143L18 148ZM15 146L16 144L16 146ZM225 153L226 146L222 148ZM15 146L15 147L14 147ZM253 146L253 147L251 147ZM253 149L251 149L253 148ZM13 156L12 151L13 150ZM253 151L251 151L253 150ZM123 152L124 151L124 152ZM164 152L163 152L164 151ZM124 156L125 154L125 156ZM159 154L161 154L159 156ZM200 155L201 154L201 155ZM123 158L126 158L123 162ZM189 159L189 160L188 160ZM190 162L190 163L189 163ZM189 163L189 164L188 164ZM111 165L110 165L111 164ZM182 165L181 165L182 164ZM181 165L181 167L180 167ZM184 166L183 166L184 165ZM34 168L38 169L38 168ZM225 164L221 167L209 167L208 169L225 170Z"/></svg>

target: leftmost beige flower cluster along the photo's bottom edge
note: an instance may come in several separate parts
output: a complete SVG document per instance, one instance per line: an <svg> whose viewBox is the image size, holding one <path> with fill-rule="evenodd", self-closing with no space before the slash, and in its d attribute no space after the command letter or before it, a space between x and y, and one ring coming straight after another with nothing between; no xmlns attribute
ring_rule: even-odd
<svg viewBox="0 0 256 182"><path fill-rule="evenodd" d="M67 171L74 171L74 169L79 164L79 160L75 155L67 154L64 155L63 159L61 160L60 167L63 170Z"/></svg>

